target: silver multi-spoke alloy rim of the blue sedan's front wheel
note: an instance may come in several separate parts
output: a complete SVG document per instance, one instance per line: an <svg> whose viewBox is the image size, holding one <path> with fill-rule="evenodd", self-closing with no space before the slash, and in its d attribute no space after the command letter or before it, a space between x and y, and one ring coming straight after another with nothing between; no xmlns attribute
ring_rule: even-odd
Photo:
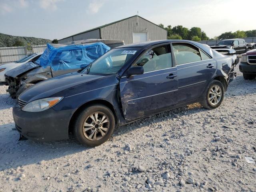
<svg viewBox="0 0 256 192"><path fill-rule="evenodd" d="M102 112L90 114L83 124L84 136L91 141L102 139L110 127L109 118Z"/></svg>

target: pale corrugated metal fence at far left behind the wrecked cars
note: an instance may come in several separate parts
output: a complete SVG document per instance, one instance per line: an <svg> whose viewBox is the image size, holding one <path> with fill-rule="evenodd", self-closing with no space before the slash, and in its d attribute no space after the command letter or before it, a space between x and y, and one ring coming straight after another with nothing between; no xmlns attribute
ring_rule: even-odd
<svg viewBox="0 0 256 192"><path fill-rule="evenodd" d="M26 50L26 47L0 47L0 64L18 61L26 54L43 52L46 45L32 46L32 50Z"/></svg>

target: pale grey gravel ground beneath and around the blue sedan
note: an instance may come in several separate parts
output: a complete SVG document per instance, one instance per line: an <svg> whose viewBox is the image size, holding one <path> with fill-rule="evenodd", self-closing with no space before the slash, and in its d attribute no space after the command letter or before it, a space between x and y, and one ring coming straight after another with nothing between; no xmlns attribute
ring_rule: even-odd
<svg viewBox="0 0 256 192"><path fill-rule="evenodd" d="M256 80L239 71L219 108L193 104L151 116L96 148L18 141L5 89L0 191L256 191L256 165L244 158L256 161Z"/></svg>

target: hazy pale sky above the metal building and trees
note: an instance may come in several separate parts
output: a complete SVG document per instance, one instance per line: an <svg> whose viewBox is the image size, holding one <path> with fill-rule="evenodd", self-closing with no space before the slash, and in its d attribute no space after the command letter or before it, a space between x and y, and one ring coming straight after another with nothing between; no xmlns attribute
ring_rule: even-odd
<svg viewBox="0 0 256 192"><path fill-rule="evenodd" d="M137 11L155 24L200 27L210 38L256 29L256 0L0 0L0 33L61 39Z"/></svg>

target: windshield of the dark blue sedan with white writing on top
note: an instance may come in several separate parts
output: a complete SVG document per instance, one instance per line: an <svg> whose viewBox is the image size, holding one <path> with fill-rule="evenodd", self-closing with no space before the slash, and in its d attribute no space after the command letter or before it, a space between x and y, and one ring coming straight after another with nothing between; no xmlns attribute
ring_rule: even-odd
<svg viewBox="0 0 256 192"><path fill-rule="evenodd" d="M117 48L106 52L87 66L81 73L84 74L116 74L126 64L139 48Z"/></svg>

